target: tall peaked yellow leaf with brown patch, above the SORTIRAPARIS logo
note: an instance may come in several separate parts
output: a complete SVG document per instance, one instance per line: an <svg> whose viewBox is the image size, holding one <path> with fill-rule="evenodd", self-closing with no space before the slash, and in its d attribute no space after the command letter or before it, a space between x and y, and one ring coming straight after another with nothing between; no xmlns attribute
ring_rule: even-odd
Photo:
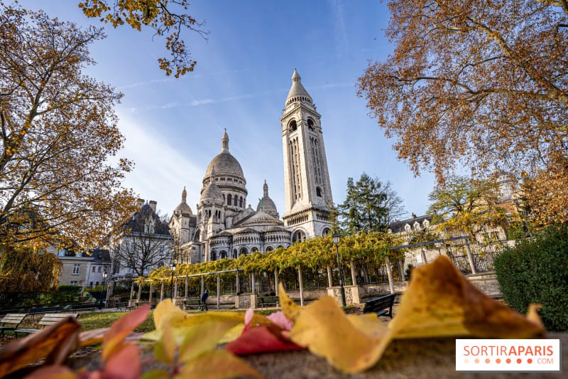
<svg viewBox="0 0 568 379"><path fill-rule="evenodd" d="M389 329L394 338L476 336L531 338L545 332L534 321L486 296L444 255L413 270Z"/></svg>

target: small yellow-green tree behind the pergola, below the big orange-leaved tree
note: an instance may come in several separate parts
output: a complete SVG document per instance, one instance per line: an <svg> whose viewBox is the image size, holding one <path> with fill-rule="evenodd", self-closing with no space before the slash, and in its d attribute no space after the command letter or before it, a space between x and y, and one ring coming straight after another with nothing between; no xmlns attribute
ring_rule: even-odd
<svg viewBox="0 0 568 379"><path fill-rule="evenodd" d="M434 215L438 232L466 233L472 238L484 228L504 225L506 215L496 206L493 181L452 176L430 193L428 213Z"/></svg>

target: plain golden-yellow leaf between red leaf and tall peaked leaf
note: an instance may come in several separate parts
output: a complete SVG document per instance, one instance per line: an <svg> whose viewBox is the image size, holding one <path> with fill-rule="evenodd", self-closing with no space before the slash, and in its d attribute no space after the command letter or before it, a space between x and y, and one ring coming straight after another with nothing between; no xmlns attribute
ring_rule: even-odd
<svg viewBox="0 0 568 379"><path fill-rule="evenodd" d="M368 317L361 322L350 321L329 296L297 310L296 316L290 339L344 373L359 373L374 365L392 339L391 331L380 326L366 333L363 326L372 321ZM381 323L376 316L375 322Z"/></svg>

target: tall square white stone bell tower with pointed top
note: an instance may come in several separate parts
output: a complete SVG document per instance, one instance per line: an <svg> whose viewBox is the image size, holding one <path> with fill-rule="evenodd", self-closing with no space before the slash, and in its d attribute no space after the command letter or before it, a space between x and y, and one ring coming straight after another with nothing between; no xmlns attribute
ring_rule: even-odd
<svg viewBox="0 0 568 379"><path fill-rule="evenodd" d="M284 223L294 230L293 242L327 235L331 230L329 204L333 198L321 115L296 69L280 122L286 197Z"/></svg>

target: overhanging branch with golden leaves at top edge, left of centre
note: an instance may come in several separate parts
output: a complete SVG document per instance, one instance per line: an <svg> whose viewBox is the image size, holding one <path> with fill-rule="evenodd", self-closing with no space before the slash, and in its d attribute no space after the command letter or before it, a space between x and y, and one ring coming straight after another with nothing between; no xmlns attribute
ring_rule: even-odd
<svg viewBox="0 0 568 379"><path fill-rule="evenodd" d="M160 68L168 76L175 70L175 78L193 71L197 63L185 46L183 34L193 32L205 39L209 35L204 21L198 22L186 13L189 0L86 0L79 6L87 17L99 18L114 28L128 25L137 31L153 29L155 36L165 38L165 48L170 51L170 58L158 58Z"/></svg>

